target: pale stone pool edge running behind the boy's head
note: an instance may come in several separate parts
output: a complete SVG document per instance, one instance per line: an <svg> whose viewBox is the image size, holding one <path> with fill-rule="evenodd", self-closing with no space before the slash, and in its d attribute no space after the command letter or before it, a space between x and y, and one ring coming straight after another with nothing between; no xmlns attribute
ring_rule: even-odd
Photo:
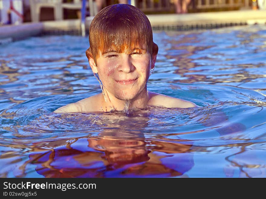
<svg viewBox="0 0 266 199"><path fill-rule="evenodd" d="M154 29L186 30L194 28L219 28L232 25L266 25L266 10L237 10L225 12L201 12L187 14L147 15ZM93 17L86 18L86 32ZM0 26L0 44L8 41L40 35L44 32L80 31L80 20L44 21L21 25Z"/></svg>

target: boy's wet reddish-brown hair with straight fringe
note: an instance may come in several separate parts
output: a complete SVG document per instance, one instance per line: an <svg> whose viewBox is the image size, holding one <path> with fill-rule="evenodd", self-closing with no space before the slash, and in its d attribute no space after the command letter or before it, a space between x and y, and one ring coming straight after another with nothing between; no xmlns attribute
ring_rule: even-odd
<svg viewBox="0 0 266 199"><path fill-rule="evenodd" d="M141 48L151 55L158 53L153 42L151 23L138 8L128 4L115 4L103 8L92 20L89 28L90 48L87 58L96 58L99 51L126 52Z"/></svg>

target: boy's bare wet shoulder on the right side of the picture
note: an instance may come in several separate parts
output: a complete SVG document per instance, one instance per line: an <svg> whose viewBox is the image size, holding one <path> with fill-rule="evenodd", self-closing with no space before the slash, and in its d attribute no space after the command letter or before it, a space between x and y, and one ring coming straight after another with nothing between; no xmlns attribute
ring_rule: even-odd
<svg viewBox="0 0 266 199"><path fill-rule="evenodd" d="M167 95L162 95L159 93L149 92L149 105L151 106L164 106L166 108L192 108L197 107L191 101L173 98Z"/></svg>

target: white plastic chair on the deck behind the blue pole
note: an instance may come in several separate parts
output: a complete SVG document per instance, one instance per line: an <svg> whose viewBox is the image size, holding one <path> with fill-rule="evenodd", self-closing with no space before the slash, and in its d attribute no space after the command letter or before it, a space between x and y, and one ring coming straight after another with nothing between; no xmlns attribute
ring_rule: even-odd
<svg viewBox="0 0 266 199"><path fill-rule="evenodd" d="M29 0L31 7L31 21L39 22L40 12L42 7L54 8L55 20L63 20L63 9L81 9L82 0L73 0L73 3L63 3L63 0ZM90 16L94 16L96 5L93 0L86 2L86 7L89 7Z"/></svg>

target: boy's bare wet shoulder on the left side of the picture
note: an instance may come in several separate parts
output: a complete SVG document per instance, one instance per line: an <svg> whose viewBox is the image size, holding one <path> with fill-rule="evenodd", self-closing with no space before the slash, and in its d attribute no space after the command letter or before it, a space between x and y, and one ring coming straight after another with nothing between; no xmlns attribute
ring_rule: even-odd
<svg viewBox="0 0 266 199"><path fill-rule="evenodd" d="M54 111L54 113L79 113L99 111L99 96L94 95L89 98L82 99L75 103L67 104Z"/></svg>

